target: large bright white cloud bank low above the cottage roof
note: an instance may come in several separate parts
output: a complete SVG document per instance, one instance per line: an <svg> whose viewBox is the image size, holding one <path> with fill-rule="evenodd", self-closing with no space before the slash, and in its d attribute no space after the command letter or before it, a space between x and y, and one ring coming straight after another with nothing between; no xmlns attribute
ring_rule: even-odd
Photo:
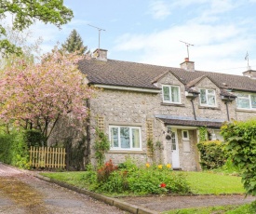
<svg viewBox="0 0 256 214"><path fill-rule="evenodd" d="M140 62L178 67L187 57L186 46L179 40L195 44L189 47L190 58L195 60L195 69L215 71L223 68L245 67L245 47L256 42L246 29L233 24L184 24L150 34L124 34L117 41L114 52L140 51ZM241 58L236 59L237 53ZM218 61L218 63L216 63ZM219 71L220 72L220 71ZM230 70L222 73L231 74ZM235 71L241 74L241 69Z"/></svg>

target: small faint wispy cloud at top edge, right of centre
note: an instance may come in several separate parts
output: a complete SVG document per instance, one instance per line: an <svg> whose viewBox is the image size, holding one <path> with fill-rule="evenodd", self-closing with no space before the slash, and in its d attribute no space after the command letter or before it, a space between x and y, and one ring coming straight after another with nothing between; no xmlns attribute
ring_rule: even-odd
<svg viewBox="0 0 256 214"><path fill-rule="evenodd" d="M152 1L149 5L149 14L151 14L155 20L164 20L170 14L169 6L161 0Z"/></svg>

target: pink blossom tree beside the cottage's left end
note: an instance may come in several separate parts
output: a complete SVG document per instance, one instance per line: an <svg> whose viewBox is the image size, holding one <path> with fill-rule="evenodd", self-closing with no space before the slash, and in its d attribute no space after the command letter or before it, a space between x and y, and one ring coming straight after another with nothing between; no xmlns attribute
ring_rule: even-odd
<svg viewBox="0 0 256 214"><path fill-rule="evenodd" d="M46 139L62 116L81 125L88 116L86 100L94 94L77 68L82 59L55 48L40 63L20 60L8 67L0 79L0 118L38 129Z"/></svg>

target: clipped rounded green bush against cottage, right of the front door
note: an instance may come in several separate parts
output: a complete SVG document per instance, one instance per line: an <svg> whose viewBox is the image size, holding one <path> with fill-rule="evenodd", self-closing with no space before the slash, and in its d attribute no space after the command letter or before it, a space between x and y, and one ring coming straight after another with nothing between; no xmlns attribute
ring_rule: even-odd
<svg viewBox="0 0 256 214"><path fill-rule="evenodd" d="M223 143L220 140L201 141L197 143L200 152L200 165L203 169L222 167L226 160Z"/></svg>

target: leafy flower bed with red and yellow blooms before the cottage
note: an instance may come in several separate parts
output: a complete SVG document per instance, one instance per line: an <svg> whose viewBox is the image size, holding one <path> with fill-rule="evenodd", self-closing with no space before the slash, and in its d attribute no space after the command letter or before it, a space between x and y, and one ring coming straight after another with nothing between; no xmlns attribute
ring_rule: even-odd
<svg viewBox="0 0 256 214"><path fill-rule="evenodd" d="M107 194L187 194L190 188L185 175L168 167L137 167L128 159L113 165L112 161L97 171L97 180L89 178L92 190Z"/></svg>

